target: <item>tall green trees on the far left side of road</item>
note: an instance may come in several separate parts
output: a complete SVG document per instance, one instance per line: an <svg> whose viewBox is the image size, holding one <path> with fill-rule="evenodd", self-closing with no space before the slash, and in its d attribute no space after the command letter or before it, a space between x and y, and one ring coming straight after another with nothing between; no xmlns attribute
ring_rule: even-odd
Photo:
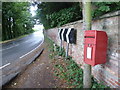
<svg viewBox="0 0 120 90"><path fill-rule="evenodd" d="M2 3L2 40L32 33L35 24L28 2Z"/></svg>

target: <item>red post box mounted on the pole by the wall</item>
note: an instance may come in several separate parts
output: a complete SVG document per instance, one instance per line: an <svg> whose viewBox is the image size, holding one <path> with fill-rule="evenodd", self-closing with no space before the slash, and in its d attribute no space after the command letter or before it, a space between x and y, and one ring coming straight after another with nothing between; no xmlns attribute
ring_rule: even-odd
<svg viewBox="0 0 120 90"><path fill-rule="evenodd" d="M84 62L92 66L106 63L107 41L108 37L104 31L85 31Z"/></svg>

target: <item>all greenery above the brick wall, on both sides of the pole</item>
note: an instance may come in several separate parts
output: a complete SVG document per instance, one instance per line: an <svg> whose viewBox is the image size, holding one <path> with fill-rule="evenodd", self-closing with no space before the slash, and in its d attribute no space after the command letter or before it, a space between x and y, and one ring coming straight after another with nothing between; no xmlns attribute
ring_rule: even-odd
<svg viewBox="0 0 120 90"><path fill-rule="evenodd" d="M93 2L93 18L120 10L120 2ZM38 4L37 18L45 29L82 19L82 5L77 2L43 2Z"/></svg>

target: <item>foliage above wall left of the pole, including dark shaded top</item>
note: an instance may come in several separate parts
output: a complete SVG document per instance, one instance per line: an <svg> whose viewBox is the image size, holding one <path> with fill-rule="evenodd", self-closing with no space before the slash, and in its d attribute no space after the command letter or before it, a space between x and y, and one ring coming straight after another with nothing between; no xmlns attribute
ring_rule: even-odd
<svg viewBox="0 0 120 90"><path fill-rule="evenodd" d="M57 5L57 6L56 6ZM45 29L61 26L63 24L82 18L79 3L57 2L41 3L38 5L38 14Z"/></svg>

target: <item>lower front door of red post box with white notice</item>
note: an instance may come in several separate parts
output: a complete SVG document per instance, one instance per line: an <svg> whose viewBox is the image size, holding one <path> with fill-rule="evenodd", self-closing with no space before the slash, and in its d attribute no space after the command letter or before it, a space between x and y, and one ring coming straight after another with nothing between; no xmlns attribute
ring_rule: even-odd
<svg viewBox="0 0 120 90"><path fill-rule="evenodd" d="M95 63L95 44L84 45L84 61L87 64L94 66Z"/></svg>

